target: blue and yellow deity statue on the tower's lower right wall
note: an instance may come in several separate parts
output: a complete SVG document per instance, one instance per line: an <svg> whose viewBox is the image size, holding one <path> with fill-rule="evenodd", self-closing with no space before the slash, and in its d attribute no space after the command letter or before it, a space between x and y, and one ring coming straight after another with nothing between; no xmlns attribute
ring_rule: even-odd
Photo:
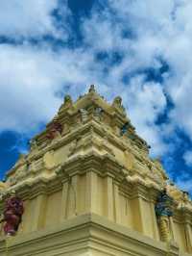
<svg viewBox="0 0 192 256"><path fill-rule="evenodd" d="M173 216L172 211L173 199L166 190L159 193L156 200L156 218L159 225L160 236L163 242L171 240L170 217Z"/></svg>

